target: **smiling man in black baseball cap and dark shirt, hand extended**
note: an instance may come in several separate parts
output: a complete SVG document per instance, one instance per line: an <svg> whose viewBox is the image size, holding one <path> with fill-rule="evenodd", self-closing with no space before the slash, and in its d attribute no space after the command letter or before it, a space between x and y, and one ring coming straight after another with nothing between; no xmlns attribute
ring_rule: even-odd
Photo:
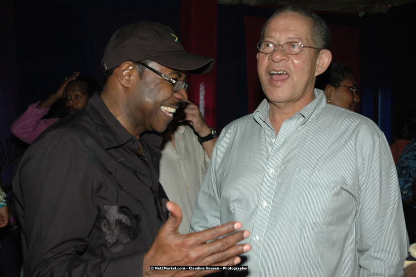
<svg viewBox="0 0 416 277"><path fill-rule="evenodd" d="M212 271L153 266L240 263L251 248L236 245L249 235L241 223L179 234L181 210L158 181L157 133L187 100L185 73L213 60L187 53L169 27L140 22L111 37L102 65L101 94L46 130L13 181L28 276L202 276Z"/></svg>

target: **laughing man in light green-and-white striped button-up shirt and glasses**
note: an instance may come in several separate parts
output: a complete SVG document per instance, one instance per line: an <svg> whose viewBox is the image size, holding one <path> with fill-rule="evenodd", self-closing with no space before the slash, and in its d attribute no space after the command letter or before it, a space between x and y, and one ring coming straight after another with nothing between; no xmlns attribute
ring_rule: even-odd
<svg viewBox="0 0 416 277"><path fill-rule="evenodd" d="M257 45L266 99L215 144L191 231L241 221L251 276L403 275L408 239L389 145L371 120L314 90L330 38L309 10L275 12Z"/></svg>

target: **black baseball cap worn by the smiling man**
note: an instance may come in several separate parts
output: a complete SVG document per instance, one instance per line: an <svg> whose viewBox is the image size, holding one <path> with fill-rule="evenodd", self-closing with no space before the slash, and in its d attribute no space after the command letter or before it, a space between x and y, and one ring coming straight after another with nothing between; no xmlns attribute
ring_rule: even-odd
<svg viewBox="0 0 416 277"><path fill-rule="evenodd" d="M117 30L105 47L101 64L106 72L125 61L144 59L198 74L207 73L214 66L214 59L185 51L171 28L149 21L128 24Z"/></svg>

